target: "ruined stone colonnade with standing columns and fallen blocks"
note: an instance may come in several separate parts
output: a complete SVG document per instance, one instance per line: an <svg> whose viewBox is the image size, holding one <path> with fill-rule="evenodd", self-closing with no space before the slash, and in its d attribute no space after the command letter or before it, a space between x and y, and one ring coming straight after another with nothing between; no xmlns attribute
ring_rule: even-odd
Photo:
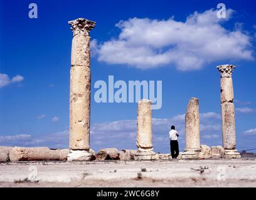
<svg viewBox="0 0 256 200"><path fill-rule="evenodd" d="M90 30L95 22L78 18L69 21L73 31L70 69L70 145L69 149L0 147L0 162L8 161L104 161L172 159L156 154L152 144L152 104L141 99L137 107L137 150L90 149ZM235 66L218 66L221 75L222 146L200 144L200 113L197 98L189 100L185 116L186 148L178 159L240 158L236 148L235 108L232 72Z"/></svg>

